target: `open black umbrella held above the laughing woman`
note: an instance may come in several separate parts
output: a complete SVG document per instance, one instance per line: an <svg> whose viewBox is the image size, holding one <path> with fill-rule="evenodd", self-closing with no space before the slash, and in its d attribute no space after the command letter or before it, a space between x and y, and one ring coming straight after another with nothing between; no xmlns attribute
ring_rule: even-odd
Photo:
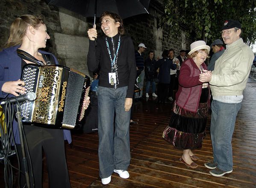
<svg viewBox="0 0 256 188"><path fill-rule="evenodd" d="M148 13L150 0L48 0L49 4L63 7L84 17L100 17L105 12L115 12L121 18Z"/></svg>

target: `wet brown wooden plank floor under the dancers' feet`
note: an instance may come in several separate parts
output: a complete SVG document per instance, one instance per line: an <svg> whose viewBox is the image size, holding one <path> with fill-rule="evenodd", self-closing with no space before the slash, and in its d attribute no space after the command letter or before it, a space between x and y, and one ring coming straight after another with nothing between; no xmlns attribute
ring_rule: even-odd
<svg viewBox="0 0 256 188"><path fill-rule="evenodd" d="M156 104L152 99L136 103L130 127L131 164L129 179L112 174L102 185L98 176L97 133L73 135L73 147L67 145L67 161L72 188L256 188L256 82L250 79L233 134L233 172L214 177L204 163L212 160L212 145L207 135L203 147L195 153L199 167L190 169L179 162L182 151L162 138L168 125L172 104Z"/></svg>

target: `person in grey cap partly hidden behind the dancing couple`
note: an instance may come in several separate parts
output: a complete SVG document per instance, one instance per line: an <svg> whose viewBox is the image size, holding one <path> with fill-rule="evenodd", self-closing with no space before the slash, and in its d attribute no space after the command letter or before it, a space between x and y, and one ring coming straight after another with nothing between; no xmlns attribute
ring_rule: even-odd
<svg viewBox="0 0 256 188"><path fill-rule="evenodd" d="M220 39L216 39L212 42L211 46L213 55L207 66L208 71L213 71L215 66L215 61L224 53L225 48L223 47L223 42Z"/></svg>

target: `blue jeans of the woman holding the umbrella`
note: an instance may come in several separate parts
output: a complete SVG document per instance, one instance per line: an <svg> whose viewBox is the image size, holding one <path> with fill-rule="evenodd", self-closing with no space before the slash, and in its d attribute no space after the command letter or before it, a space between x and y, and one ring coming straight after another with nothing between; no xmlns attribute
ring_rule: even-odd
<svg viewBox="0 0 256 188"><path fill-rule="evenodd" d="M127 170L129 167L131 111L124 110L127 86L116 89L99 87L97 92L100 178L106 178L114 169Z"/></svg>

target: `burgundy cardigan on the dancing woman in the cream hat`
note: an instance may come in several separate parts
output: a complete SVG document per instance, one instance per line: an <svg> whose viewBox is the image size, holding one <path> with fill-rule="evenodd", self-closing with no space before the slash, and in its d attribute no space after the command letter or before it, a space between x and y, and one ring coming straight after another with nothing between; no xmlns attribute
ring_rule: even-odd
<svg viewBox="0 0 256 188"><path fill-rule="evenodd" d="M202 66L204 70L207 70L205 63ZM179 73L179 89L176 93L176 104L190 112L197 112L202 92L203 83L199 81L199 74L200 70L193 59L186 59L182 63ZM208 103L210 103L210 89Z"/></svg>

